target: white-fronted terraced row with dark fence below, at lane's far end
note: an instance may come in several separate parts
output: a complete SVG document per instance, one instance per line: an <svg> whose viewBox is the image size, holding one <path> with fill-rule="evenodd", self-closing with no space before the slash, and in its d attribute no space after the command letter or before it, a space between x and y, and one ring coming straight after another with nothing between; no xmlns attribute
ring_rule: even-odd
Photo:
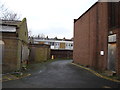
<svg viewBox="0 0 120 90"><path fill-rule="evenodd" d="M34 44L50 45L51 57L54 59L72 59L73 58L73 38L72 39L59 39L55 38L40 38L33 37Z"/></svg>

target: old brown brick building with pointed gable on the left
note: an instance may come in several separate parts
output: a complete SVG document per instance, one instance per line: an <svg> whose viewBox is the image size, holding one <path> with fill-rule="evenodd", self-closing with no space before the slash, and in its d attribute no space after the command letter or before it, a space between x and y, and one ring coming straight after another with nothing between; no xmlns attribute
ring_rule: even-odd
<svg viewBox="0 0 120 90"><path fill-rule="evenodd" d="M26 18L22 21L2 20L2 71L21 69L28 60L28 29Z"/></svg>

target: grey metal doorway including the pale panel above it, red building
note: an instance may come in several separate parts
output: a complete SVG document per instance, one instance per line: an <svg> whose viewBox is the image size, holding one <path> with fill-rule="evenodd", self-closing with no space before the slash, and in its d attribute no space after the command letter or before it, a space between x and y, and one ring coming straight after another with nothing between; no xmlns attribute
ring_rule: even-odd
<svg viewBox="0 0 120 90"><path fill-rule="evenodd" d="M108 70L115 71L116 62L116 35L109 36L108 43Z"/></svg>

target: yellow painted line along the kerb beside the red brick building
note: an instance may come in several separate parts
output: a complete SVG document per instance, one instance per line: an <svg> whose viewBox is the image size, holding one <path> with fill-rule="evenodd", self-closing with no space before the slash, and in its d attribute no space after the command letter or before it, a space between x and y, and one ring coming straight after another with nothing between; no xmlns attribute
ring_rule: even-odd
<svg viewBox="0 0 120 90"><path fill-rule="evenodd" d="M85 70L88 70L88 71L92 72L93 74L95 74L95 75L98 76L98 77L101 77L101 78L104 78L104 79L107 79L107 80L110 80L110 81L113 81L113 82L120 82L119 80L111 79L111 78L109 78L109 77L103 76L103 75L97 73L96 71L94 71L94 70L92 70L92 69L90 69L90 68L86 68L86 67L83 67L83 66L78 65L78 64L75 64L75 63L71 63L71 64L72 64L72 65L75 65L75 66L78 66L78 67L80 67L80 68L83 68L83 69L85 69Z"/></svg>

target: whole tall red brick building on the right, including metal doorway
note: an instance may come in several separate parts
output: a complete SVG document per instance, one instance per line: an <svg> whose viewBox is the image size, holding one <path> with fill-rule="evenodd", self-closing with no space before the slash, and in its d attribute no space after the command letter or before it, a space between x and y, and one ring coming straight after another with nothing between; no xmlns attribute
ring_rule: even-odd
<svg viewBox="0 0 120 90"><path fill-rule="evenodd" d="M120 2L97 2L74 20L73 59L120 75Z"/></svg>

